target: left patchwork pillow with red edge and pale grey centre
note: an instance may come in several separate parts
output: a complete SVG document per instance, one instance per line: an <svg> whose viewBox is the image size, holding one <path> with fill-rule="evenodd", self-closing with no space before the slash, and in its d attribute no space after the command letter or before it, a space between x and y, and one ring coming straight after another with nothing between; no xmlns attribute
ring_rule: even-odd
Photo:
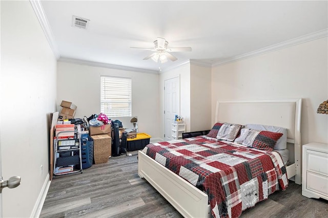
<svg viewBox="0 0 328 218"><path fill-rule="evenodd" d="M237 137L241 125L232 123L215 123L207 137L233 141Z"/></svg>

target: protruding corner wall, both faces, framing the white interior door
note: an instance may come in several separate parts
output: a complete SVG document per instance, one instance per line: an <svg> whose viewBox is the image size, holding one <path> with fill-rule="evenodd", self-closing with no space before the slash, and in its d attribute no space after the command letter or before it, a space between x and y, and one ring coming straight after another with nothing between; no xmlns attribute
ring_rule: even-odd
<svg viewBox="0 0 328 218"><path fill-rule="evenodd" d="M180 77L180 115L185 118L186 132L210 129L211 68L190 62L159 75L160 108L164 110L164 82ZM164 133L164 115L160 114Z"/></svg>

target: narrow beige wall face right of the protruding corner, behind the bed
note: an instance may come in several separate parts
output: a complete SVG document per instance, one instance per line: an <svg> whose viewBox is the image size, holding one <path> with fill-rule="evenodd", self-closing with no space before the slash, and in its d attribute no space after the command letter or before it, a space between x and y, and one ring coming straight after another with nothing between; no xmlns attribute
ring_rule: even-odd
<svg viewBox="0 0 328 218"><path fill-rule="evenodd" d="M212 128L211 68L190 66L190 131Z"/></svg>

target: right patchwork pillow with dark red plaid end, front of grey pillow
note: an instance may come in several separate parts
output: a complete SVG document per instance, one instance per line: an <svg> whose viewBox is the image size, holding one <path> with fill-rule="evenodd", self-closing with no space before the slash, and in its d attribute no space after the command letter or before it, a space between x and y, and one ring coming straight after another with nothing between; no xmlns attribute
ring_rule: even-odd
<svg viewBox="0 0 328 218"><path fill-rule="evenodd" d="M272 151L282 133L242 128L240 136L234 142L259 150Z"/></svg>

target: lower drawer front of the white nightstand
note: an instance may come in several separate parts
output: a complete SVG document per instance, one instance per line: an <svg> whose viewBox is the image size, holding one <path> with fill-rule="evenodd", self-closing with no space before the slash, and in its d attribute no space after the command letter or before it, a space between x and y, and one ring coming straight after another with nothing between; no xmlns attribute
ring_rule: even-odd
<svg viewBox="0 0 328 218"><path fill-rule="evenodd" d="M328 197L328 177L306 172L306 188Z"/></svg>

